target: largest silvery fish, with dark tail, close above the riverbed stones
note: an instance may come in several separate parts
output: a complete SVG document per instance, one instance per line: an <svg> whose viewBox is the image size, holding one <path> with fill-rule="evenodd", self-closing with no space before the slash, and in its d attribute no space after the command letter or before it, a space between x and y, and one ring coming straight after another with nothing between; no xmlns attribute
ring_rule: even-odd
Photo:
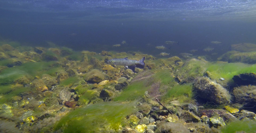
<svg viewBox="0 0 256 133"><path fill-rule="evenodd" d="M111 59L108 60L107 63L111 65L120 65L120 66L136 66L136 65L142 65L145 66L144 63L145 57L143 57L141 60L128 60L128 58L120 58L120 59Z"/></svg>

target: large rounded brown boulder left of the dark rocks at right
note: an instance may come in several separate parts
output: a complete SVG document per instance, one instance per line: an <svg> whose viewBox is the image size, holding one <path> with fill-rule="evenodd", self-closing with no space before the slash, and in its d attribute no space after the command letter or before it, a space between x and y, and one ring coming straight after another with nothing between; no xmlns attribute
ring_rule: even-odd
<svg viewBox="0 0 256 133"><path fill-rule="evenodd" d="M229 92L220 84L210 80L207 77L196 79L193 84L193 90L197 96L206 100L210 100L215 104L227 104L230 102Z"/></svg>

